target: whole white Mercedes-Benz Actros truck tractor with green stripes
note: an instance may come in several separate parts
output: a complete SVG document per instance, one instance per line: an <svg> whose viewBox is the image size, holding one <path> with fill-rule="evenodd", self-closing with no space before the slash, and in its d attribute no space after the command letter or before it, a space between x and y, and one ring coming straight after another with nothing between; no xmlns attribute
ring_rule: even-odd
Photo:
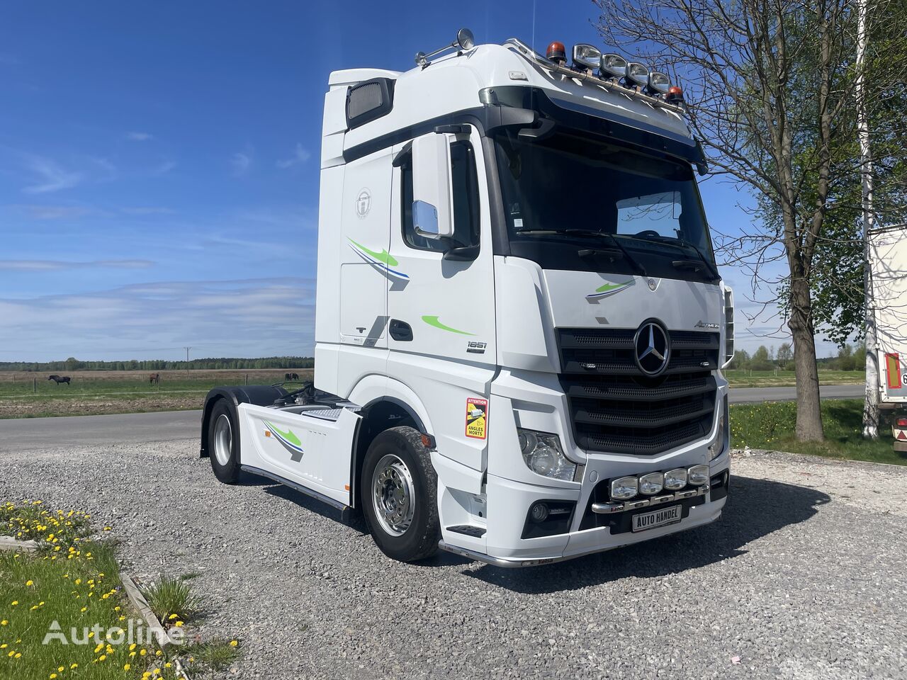
<svg viewBox="0 0 907 680"><path fill-rule="evenodd" d="M444 53L444 54L442 54ZM733 300L683 93L518 40L331 73L315 381L218 387L201 454L400 560L576 558L717 520Z"/></svg>

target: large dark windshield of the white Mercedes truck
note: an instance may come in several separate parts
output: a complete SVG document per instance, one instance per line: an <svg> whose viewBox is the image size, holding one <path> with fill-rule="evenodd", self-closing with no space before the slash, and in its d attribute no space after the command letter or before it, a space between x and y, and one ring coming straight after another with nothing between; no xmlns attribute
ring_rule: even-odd
<svg viewBox="0 0 907 680"><path fill-rule="evenodd" d="M688 164L565 131L504 131L496 152L513 255L545 268L717 278Z"/></svg>

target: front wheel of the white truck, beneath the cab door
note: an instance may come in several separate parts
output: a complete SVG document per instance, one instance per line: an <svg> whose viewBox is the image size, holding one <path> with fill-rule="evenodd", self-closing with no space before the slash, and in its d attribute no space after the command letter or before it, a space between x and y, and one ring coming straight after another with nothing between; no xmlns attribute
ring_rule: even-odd
<svg viewBox="0 0 907 680"><path fill-rule="evenodd" d="M366 452L361 481L362 510L387 557L414 562L437 552L438 478L417 430L394 427L378 434Z"/></svg>

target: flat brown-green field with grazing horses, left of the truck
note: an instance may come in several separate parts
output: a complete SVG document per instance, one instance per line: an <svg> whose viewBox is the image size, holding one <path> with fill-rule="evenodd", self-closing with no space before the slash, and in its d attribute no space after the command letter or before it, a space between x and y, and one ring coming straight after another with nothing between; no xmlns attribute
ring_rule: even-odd
<svg viewBox="0 0 907 680"><path fill-rule="evenodd" d="M48 380L68 375L70 384ZM310 368L190 371L0 371L0 419L48 415L142 413L199 409L219 384L273 384L285 374L311 380ZM161 374L151 383L151 374ZM292 385L288 385L292 388Z"/></svg>

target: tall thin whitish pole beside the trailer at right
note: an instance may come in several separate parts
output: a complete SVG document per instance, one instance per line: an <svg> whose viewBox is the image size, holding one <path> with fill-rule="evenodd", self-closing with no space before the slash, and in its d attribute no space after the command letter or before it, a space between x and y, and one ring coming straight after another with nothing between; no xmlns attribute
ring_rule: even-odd
<svg viewBox="0 0 907 680"><path fill-rule="evenodd" d="M873 274L869 266L869 235L875 227L873 212L873 151L869 145L869 114L866 111L866 17L870 0L857 0L856 36L856 129L860 140L860 179L863 203L863 309L866 328L866 401L863 403L863 438L879 438L879 361L876 352Z"/></svg>

